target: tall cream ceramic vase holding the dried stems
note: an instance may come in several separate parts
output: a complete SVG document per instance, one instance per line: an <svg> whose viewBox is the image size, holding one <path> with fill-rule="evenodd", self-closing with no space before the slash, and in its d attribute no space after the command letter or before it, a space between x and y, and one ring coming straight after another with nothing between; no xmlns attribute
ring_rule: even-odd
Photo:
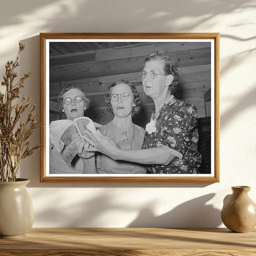
<svg viewBox="0 0 256 256"><path fill-rule="evenodd" d="M18 238L30 231L34 210L26 190L29 182L25 178L0 182L0 238Z"/></svg>

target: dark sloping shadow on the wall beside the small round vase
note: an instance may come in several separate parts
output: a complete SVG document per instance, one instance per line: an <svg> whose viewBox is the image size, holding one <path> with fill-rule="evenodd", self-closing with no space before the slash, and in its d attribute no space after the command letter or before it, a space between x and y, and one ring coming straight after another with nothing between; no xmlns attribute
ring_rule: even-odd
<svg viewBox="0 0 256 256"><path fill-rule="evenodd" d="M222 223L220 210L215 209L212 205L206 205L207 201L214 198L214 196L215 194L211 193L194 198L159 216L155 216L152 209L143 209L136 220L130 223L128 227L216 227Z"/></svg>

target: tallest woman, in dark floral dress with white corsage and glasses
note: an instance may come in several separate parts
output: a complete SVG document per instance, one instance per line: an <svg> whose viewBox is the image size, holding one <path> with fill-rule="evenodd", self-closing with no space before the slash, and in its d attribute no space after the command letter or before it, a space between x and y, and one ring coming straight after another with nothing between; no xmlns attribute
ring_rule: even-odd
<svg viewBox="0 0 256 256"><path fill-rule="evenodd" d="M154 52L144 62L143 90L155 110L141 150L122 150L98 132L87 132L88 142L113 159L147 165L148 174L197 174L201 154L197 150L197 110L193 103L177 100L178 71L172 60Z"/></svg>

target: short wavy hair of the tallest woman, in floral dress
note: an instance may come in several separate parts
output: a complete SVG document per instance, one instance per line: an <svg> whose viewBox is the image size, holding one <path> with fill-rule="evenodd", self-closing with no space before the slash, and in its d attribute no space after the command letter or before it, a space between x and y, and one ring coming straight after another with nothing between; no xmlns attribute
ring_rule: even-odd
<svg viewBox="0 0 256 256"><path fill-rule="evenodd" d="M146 57L144 65L146 64L146 62L152 62L154 60L161 61L163 63L164 73L166 75L172 74L172 76L174 77L172 84L169 85L169 90L170 94L175 94L175 92L177 92L178 89L178 70L173 60L167 55L162 55L158 52L153 52L148 57Z"/></svg>

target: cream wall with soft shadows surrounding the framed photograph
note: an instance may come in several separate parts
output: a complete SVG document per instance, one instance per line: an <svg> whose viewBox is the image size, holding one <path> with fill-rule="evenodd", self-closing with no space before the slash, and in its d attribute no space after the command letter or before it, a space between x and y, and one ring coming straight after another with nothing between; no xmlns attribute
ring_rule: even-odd
<svg viewBox="0 0 256 256"><path fill-rule="evenodd" d="M40 32L219 32L220 183L39 183L39 151L25 159L34 227L215 227L233 185L256 201L255 1L1 1L0 74L26 45L24 93L38 105ZM39 130L33 135L39 143Z"/></svg>

